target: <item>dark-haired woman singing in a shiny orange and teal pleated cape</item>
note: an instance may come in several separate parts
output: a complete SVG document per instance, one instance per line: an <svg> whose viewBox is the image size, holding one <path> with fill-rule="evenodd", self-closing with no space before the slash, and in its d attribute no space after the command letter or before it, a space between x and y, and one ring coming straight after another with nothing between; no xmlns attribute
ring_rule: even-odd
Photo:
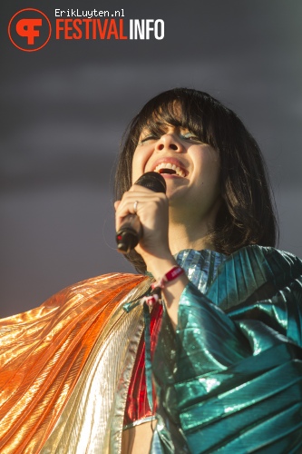
<svg viewBox="0 0 302 454"><path fill-rule="evenodd" d="M135 184L147 172L166 193ZM117 230L141 223L139 274L6 319L3 451L300 452L302 262L274 249L254 138L209 94L173 89L133 119L115 184ZM32 338L14 338L21 321Z"/></svg>

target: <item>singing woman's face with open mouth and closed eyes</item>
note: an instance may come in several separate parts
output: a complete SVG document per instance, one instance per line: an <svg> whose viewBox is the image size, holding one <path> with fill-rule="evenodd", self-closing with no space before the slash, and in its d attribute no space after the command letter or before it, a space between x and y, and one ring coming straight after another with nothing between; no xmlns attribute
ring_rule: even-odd
<svg viewBox="0 0 302 454"><path fill-rule="evenodd" d="M132 183L150 171L164 177L170 207L189 210L199 218L216 216L220 204L219 153L194 133L170 124L161 124L156 133L148 128L141 131L133 154Z"/></svg>

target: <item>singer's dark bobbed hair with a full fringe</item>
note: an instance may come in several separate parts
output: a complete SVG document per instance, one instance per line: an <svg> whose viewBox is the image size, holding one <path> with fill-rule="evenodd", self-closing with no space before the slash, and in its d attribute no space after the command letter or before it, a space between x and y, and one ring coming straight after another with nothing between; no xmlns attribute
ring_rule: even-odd
<svg viewBox="0 0 302 454"><path fill-rule="evenodd" d="M275 246L278 222L266 165L258 143L238 115L207 93L174 88L145 104L130 123L115 176L115 200L132 186L132 157L141 130L158 123L183 126L219 151L220 191L223 202L210 237L215 250L230 254L243 246ZM141 255L127 258L139 272L146 267Z"/></svg>

